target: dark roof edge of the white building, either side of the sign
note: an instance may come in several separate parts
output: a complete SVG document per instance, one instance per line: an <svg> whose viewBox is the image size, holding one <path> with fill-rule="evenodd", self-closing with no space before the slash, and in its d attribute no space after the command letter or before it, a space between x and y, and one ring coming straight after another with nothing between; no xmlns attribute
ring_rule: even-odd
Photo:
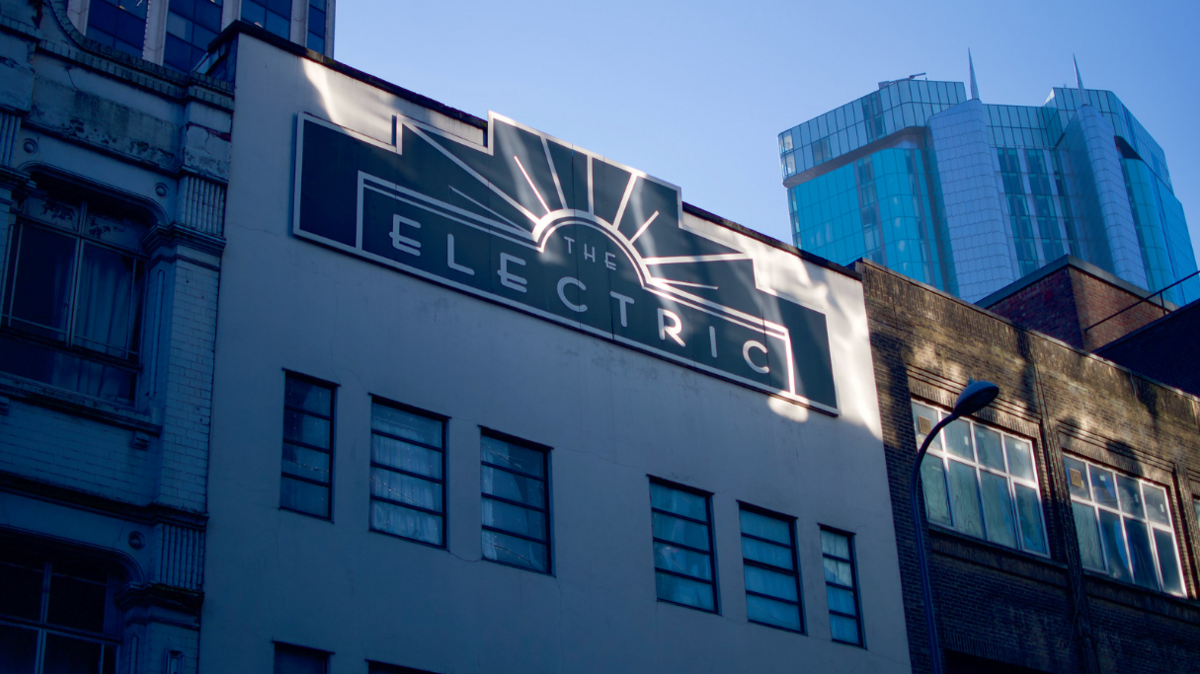
<svg viewBox="0 0 1200 674"><path fill-rule="evenodd" d="M217 49L218 47L226 44L227 42L230 42L236 35L240 35L240 34L246 34L246 35L248 35L248 36L251 36L251 37L253 37L256 40L260 40L263 42L266 42L268 44L271 44L272 47L276 47L276 48L282 49L284 52L288 52L290 54L295 54L296 56L302 56L302 58L308 59L311 61L317 61L320 65L323 65L323 66L325 66L325 67L328 67L328 68L330 68L332 71L337 71L337 72L344 74L346 77L349 77L352 79L356 79L356 80L362 82L365 84L370 84L371 86L374 86L377 89L382 89L384 91L388 91L389 94L394 94L394 95L398 96L400 98L403 98L406 101L416 103L418 106L421 106L421 107L425 107L425 108L430 108L430 109L432 109L432 110L434 110L437 113L446 115L448 118L456 119L456 120L458 120L458 121L461 121L463 124L468 124L468 125L474 126L476 128L480 128L480 130L482 130L485 132L487 131L487 120L476 118L475 115L472 115L469 113L464 113L464 112L462 112L462 110L460 110L457 108L451 108L450 106L446 106L444 103L434 101L433 98L430 98L427 96L421 96L420 94L416 94L414 91L409 91L408 89L404 89L403 86L397 86L397 85L395 85L395 84L392 84L392 83L390 83L388 80L379 79L378 77L374 77L372 74L367 74L367 73L365 73L365 72L362 72L362 71L360 71L358 68L352 68L350 66L347 66L346 64L342 64L340 61L335 61L334 59L330 59L329 56L325 56L324 54L313 52L312 49L306 49L305 47L301 47L301 46L299 46L295 42L292 42L289 40L283 40L282 37L280 37L280 36L277 36L277 35L275 35L272 32L268 32L266 29L259 28L259 26L257 26L257 25L254 25L252 23L247 23L247 22L245 22L242 19L238 19L236 22L234 22L234 23L229 24L228 26L226 26L226 29L222 30L221 34L217 35L212 40L212 42L209 44L209 52L212 52L212 50ZM487 138L486 133L485 133L484 138L485 139ZM745 235L745 236L748 236L750 239L754 239L755 241L766 243L766 245L772 246L774 248L779 248L780 251L785 251L785 252L792 253L793 255L800 258L802 260L804 260L806 263L811 263L811 264L814 264L816 266L820 266L820 267L823 267L823 269L828 269L829 271L834 271L834 272L841 273L844 276L848 276L850 278L853 278L856 281L862 281L863 279L863 277L857 271L854 271L854 270L852 270L850 267L841 266L840 264L836 264L836 263L827 260L827 259L824 259L822 257L815 255L815 254L812 254L812 253L810 253L808 251L802 251L802 249L799 249L799 248L797 248L794 246L791 246L788 243L784 243L782 241L779 241L776 239L772 239L770 236L767 236L766 234L763 234L761 231L755 231L754 229L749 229L749 228L743 227L743 225L740 225L740 224L738 224L736 222L725 219L721 216L718 216L715 213L710 213L710 212L706 211L704 209L701 209L700 206L694 206L694 205L684 201L683 203L683 211L685 213L691 213L691 215L694 215L696 217L710 221L710 222L713 222L715 224L719 224L719 225L721 225L721 227L724 227L726 229L732 229L733 231L737 231L738 234L742 234L742 235Z"/></svg>

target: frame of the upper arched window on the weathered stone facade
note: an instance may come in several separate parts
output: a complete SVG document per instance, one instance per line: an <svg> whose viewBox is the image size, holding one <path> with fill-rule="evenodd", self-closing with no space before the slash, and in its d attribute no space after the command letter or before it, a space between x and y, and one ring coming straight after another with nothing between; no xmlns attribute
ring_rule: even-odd
<svg viewBox="0 0 1200 674"><path fill-rule="evenodd" d="M38 199L47 204L60 203L68 207L73 207L76 213L70 228L64 222L54 222L30 215L26 210L29 207L29 198ZM86 398L103 401L106 403L125 408L134 408L138 405L138 393L144 385L140 379L143 372L142 356L146 339L146 336L143 332L146 329L146 291L148 277L150 275L150 260L140 245L137 247L121 246L114 241L101 239L88 231L88 218L92 215L94 205L103 203L115 205L118 210L128 211L122 215L130 216L128 222L132 227L137 228L136 234L139 235L139 239L140 236L144 236L145 233L148 233L155 224L152 217L146 213L134 213L140 210L136 204L120 198L100 194L95 191L72 183L60 183L56 180L53 181L52 187L38 189L32 194L29 194L26 199L22 201L19 210L14 209L13 222L7 228L7 241L5 242L6 245L4 248L5 257L0 260L0 265L2 265L0 266L0 338L12 339L29 344L34 348L49 349L65 354L68 357L83 362L95 363L104 368L122 371L130 380L130 397L126 399L122 397L96 396L86 391L82 391L78 387L64 386L53 381L30 378L19 373L11 373L8 371L0 371L0 375L28 379L30 381L36 381L40 385L70 391L71 393L84 396ZM103 213L103 209L100 209L100 212ZM17 290L20 287L22 248L25 245L25 236L30 230L70 239L72 241L71 288L67 293L66 325L62 330L58 330L56 327L49 325L37 325L32 321L13 315L13 303L17 302ZM132 263L130 282L130 313L125 317L128 320L128 338L121 347L118 347L116 344L100 344L102 347L100 349L91 348L85 344L92 341L83 337L82 335L83 327L78 314L82 301L80 291L84 284L83 277L86 273L86 270L84 269L84 260L86 257L85 251L89 247L102 252L114 253L120 255L122 259L128 259ZM34 326L34 329L23 327L19 324L29 324ZM38 333L37 329L47 333L61 333L61 337ZM120 356L108 353L108 349L113 348L119 348L125 355Z"/></svg>

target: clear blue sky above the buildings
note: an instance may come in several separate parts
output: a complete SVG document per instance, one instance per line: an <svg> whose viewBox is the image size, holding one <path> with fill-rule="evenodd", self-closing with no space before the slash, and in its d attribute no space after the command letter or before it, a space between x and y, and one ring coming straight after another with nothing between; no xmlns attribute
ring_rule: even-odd
<svg viewBox="0 0 1200 674"><path fill-rule="evenodd" d="M985 103L1116 92L1166 152L1200 242L1200 2L340 0L335 56L486 118L673 182L685 201L791 242L775 137L926 72Z"/></svg>

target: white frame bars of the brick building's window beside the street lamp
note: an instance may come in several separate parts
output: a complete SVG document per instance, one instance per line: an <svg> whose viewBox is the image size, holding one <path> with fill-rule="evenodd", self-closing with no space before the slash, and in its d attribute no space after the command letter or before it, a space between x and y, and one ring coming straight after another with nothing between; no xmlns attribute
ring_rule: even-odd
<svg viewBox="0 0 1200 674"><path fill-rule="evenodd" d="M937 405L934 405L934 404L930 404L930 403L926 403L926 402L923 402L923 401L917 401L917 399L912 401L912 403L910 404L910 409L911 409L911 417L912 417L912 421L913 421L913 437L917 440L917 445L920 446L920 443L923 441L923 438L924 438L925 434L923 434L920 432L919 417L918 417L918 414L917 414L917 405L924 407L926 409L930 409L930 410L934 410L935 413L937 413L938 416L937 416L937 419L934 420L934 425L936 425L940 420L946 419L949 415L949 413L946 411L944 409L938 408ZM1037 443L1032 438L1026 438L1026 437L1022 437L1022 435L1018 435L1016 433L1013 433L1012 431L1008 431L1007 428L1001 428L1001 427L991 426L991 425L988 425L988 423L980 423L978 420L972 419L972 417L965 417L965 416L964 417L959 417L959 420L956 420L955 423L958 423L958 422L967 423L967 426L968 426L968 435L971 438L972 458L967 459L967 458L965 458L962 456L959 456L959 455L949 451L948 449L946 449L946 433L947 433L946 428L942 428L938 432L937 438L935 438L930 443L929 451L928 451L928 453L925 455L925 458L924 458L925 462L931 461L931 459L940 459L942 462L942 485L941 485L941 488L942 488L942 492L946 494L947 507L949 508L949 512L950 512L950 524L947 525L944 523L937 522L937 520L932 519L930 517L930 514L929 514L929 498L928 498L929 486L925 485L924 463L923 463L920 473L922 473L922 498L923 498L924 505L925 505L925 520L929 523L930 526L937 526L937 528L943 529L943 530L954 531L955 534L960 534L962 536L968 536L968 537L974 538L977 541L983 541L985 543L990 543L990 544L994 544L994 546L1000 546L1000 547L1002 547L1004 549L1008 549L1008 550L1015 550L1015 552L1024 553L1024 554L1031 554L1031 555L1034 555L1034 556L1038 556L1038 558L1042 558L1042 559L1051 559L1051 554L1050 554L1050 532L1046 530L1045 499L1043 498L1043 494L1042 494L1042 479L1040 479L1040 474L1039 474L1039 470L1038 470L1038 461L1037 461L1037 456L1038 456L1038 452L1037 452L1038 445L1037 445ZM1001 437L1000 445L1001 445L1001 447L1003 450L1003 458L1004 458L1004 469L1003 470L998 470L996 468L989 467L989 465L984 464L983 461L979 459L979 450L978 450L977 441L976 441L976 429L974 429L976 426L979 426L982 428L986 428L988 431L991 431L991 432L995 432L995 433L1000 434L1000 437ZM947 428L948 428L948 426L947 426ZM932 426L930 427L930 429L932 429ZM1031 465L1031 468L1033 470L1033 480L1028 480L1026 477L1019 477L1015 474L1013 474L1013 471L1012 471L1012 462L1009 461L1009 456L1008 456L1009 452L1008 452L1008 443L1006 440L1006 437L1010 437L1010 438L1015 439L1019 443L1025 443L1025 444L1028 445L1028 449L1030 449L1030 465ZM949 480L950 480L950 462L956 462L956 463L967 465L967 467L970 467L974 471L976 499L977 499L977 504L979 506L979 522L980 522L980 525L983 528L983 535L982 536L976 536L974 534L971 534L968 531L959 529L958 514L955 512L955 505L954 505L954 497L953 497L953 494L950 492L950 485L949 485ZM1015 546L1007 546L1003 542L992 541L988 536L989 525L988 525L988 514L986 514L986 507L985 507L985 504L984 504L984 495L983 495L984 494L984 489L983 489L983 473L989 473L989 474L995 475L997 477L1003 477L1004 481L1006 481L1007 493L1008 493L1009 514L1012 514L1012 517L1013 517L1013 526L1014 526L1013 532L1014 532L1014 540L1016 542ZM1020 514L1020 510L1018 508L1018 499L1016 499L1016 487L1018 486L1025 487L1027 489L1031 489L1033 492L1033 494L1038 499L1038 517L1040 519L1038 529L1040 530L1040 534L1042 534L1042 546L1045 549L1045 552L1040 552L1040 550L1036 550L1036 549L1026 548L1025 547L1025 540L1024 540L1024 535L1022 535L1022 531L1021 531L1021 514Z"/></svg>

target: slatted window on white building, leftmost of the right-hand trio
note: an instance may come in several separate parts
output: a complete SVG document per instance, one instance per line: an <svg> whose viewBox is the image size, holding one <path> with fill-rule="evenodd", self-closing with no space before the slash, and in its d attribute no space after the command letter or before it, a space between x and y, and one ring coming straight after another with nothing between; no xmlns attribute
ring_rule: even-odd
<svg viewBox="0 0 1200 674"><path fill-rule="evenodd" d="M659 601L716 613L709 494L650 481Z"/></svg>

